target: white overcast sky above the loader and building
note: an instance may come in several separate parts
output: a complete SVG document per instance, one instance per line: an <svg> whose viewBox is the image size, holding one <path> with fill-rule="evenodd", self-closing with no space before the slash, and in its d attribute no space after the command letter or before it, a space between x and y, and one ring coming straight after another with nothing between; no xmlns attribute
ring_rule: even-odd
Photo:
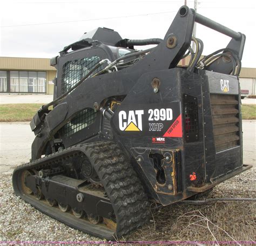
<svg viewBox="0 0 256 246"><path fill-rule="evenodd" d="M198 13L246 35L242 67L256 67L255 3L198 0ZM184 0L0 0L0 56L51 58L99 26L118 31L122 38L164 38L181 5ZM194 1L187 0L187 5L193 8ZM197 37L204 41L203 54L226 47L230 40L199 24Z"/></svg>

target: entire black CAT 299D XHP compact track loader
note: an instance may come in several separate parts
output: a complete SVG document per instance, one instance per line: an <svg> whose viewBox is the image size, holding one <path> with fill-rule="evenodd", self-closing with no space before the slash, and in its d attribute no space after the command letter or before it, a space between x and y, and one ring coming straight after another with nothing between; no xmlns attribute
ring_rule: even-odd
<svg viewBox="0 0 256 246"><path fill-rule="evenodd" d="M230 43L201 59L194 22ZM149 44L157 46L134 50ZM85 33L51 59L54 100L30 123L32 159L14 171L16 195L112 239L143 226L151 201L170 205L250 168L242 164L244 44L244 34L187 6L164 40L122 39L106 28ZM188 66L178 66L188 54Z"/></svg>

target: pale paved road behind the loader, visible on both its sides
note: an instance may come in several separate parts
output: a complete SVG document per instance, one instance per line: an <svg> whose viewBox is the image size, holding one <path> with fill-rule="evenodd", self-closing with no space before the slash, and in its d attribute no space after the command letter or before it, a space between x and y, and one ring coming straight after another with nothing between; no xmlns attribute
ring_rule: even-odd
<svg viewBox="0 0 256 246"><path fill-rule="evenodd" d="M256 166L256 120L244 120L244 164ZM28 122L0 123L0 173L12 172L31 158L34 135Z"/></svg>

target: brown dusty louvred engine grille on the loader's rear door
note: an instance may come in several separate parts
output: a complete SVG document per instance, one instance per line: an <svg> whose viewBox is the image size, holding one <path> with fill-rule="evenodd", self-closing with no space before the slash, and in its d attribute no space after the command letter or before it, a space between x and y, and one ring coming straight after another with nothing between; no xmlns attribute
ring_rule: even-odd
<svg viewBox="0 0 256 246"><path fill-rule="evenodd" d="M216 151L240 145L238 96L211 94L211 109Z"/></svg>

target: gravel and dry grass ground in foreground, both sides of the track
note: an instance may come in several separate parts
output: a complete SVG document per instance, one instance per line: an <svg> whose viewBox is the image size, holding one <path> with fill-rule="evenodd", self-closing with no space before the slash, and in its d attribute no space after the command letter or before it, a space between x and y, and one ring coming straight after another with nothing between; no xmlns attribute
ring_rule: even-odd
<svg viewBox="0 0 256 246"><path fill-rule="evenodd" d="M256 168L225 181L207 197L255 198L255 172ZM0 179L0 241L99 241L51 219L17 198L10 174L1 174ZM149 224L119 240L253 241L256 239L255 212L255 202L217 202L200 206L178 203L152 208Z"/></svg>

